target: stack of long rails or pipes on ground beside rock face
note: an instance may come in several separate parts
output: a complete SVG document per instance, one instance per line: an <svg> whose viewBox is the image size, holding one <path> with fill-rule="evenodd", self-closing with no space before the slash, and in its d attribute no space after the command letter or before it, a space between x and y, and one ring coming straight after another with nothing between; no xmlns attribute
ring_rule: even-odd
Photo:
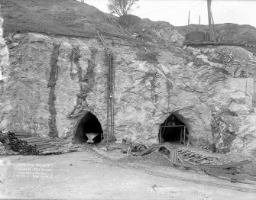
<svg viewBox="0 0 256 200"><path fill-rule="evenodd" d="M60 154L62 153L60 147L66 144L66 142L31 137L30 133L9 132L8 138L11 150L19 152L22 155Z"/></svg>

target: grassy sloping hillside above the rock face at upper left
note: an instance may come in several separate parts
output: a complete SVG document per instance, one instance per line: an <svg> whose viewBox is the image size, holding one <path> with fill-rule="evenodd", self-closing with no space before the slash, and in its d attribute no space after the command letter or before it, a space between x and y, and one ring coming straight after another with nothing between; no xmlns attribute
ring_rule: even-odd
<svg viewBox="0 0 256 200"><path fill-rule="evenodd" d="M88 37L97 27L118 34L102 11L75 0L2 0L0 5L5 36L20 31Z"/></svg>

